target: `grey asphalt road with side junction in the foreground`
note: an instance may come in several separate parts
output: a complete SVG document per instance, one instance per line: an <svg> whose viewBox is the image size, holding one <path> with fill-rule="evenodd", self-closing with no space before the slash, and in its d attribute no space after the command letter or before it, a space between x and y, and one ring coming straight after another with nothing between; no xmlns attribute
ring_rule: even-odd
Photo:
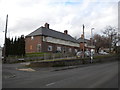
<svg viewBox="0 0 120 90"><path fill-rule="evenodd" d="M54 68L16 70L16 67L22 68L20 65L3 65L3 88L118 88L118 61L60 71Z"/></svg>

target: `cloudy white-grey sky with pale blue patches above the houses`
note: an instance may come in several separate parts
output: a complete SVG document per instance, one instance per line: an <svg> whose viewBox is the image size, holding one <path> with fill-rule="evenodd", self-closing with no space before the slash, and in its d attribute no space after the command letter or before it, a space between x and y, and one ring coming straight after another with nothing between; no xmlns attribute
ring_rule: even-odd
<svg viewBox="0 0 120 90"><path fill-rule="evenodd" d="M50 28L79 38L85 25L85 38L101 34L106 26L118 26L119 0L0 0L0 46L4 43L5 20L8 14L7 37L27 35L49 23Z"/></svg>

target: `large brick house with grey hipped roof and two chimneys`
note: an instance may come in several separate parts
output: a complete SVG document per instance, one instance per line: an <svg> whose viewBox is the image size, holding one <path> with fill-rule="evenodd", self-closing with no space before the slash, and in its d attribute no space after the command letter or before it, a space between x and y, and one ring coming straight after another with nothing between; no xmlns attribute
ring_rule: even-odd
<svg viewBox="0 0 120 90"><path fill-rule="evenodd" d="M76 53L79 50L79 42L68 34L68 30L58 32L50 29L48 23L28 34L25 43L26 53Z"/></svg>

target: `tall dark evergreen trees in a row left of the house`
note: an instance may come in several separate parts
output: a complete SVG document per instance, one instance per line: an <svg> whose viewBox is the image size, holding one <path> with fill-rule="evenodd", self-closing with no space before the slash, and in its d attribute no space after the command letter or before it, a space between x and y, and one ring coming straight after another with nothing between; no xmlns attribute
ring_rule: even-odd
<svg viewBox="0 0 120 90"><path fill-rule="evenodd" d="M21 37L15 37L13 40L10 38L6 38L6 56L9 55L14 56L25 56L25 38L24 35Z"/></svg>

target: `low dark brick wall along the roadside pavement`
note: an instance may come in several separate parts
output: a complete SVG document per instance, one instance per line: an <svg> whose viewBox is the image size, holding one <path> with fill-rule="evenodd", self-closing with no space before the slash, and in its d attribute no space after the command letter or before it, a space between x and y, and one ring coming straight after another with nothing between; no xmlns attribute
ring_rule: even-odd
<svg viewBox="0 0 120 90"><path fill-rule="evenodd" d="M117 57L108 57L102 59L93 59L93 63L103 63L108 61L116 61ZM88 64L90 63L90 59L81 60L81 59L73 59L73 60L58 60L58 61L41 61L41 62L31 62L29 66L32 67L59 67L59 66L73 66L80 64Z"/></svg>

